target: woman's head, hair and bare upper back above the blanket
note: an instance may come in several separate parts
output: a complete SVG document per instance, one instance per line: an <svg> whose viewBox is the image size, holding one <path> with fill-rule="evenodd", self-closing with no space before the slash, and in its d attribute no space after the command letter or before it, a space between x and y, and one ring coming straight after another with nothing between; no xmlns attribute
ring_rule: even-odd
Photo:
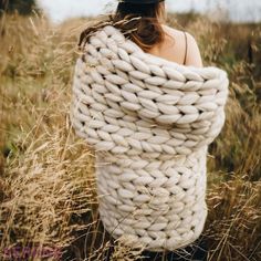
<svg viewBox="0 0 261 261"><path fill-rule="evenodd" d="M142 19L133 19L137 17ZM109 21L126 32L144 51L179 64L201 67L201 55L194 36L166 25L165 18L164 0L121 0ZM129 22L121 23L125 19ZM83 31L79 45L91 32L103 25L101 22Z"/></svg>

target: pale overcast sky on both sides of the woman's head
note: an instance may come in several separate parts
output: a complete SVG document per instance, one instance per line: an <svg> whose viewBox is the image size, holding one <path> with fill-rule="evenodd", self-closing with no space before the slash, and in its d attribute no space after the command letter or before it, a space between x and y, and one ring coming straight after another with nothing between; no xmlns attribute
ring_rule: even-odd
<svg viewBox="0 0 261 261"><path fill-rule="evenodd" d="M109 12L117 0L38 0L52 20L59 22L69 17L96 15ZM259 0L167 0L170 12L208 13L212 19L229 19L237 22L261 21L261 1Z"/></svg>

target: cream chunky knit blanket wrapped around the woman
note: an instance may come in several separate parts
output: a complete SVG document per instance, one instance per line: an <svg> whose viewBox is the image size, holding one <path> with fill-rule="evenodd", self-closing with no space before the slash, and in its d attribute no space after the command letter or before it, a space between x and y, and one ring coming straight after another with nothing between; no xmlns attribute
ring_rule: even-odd
<svg viewBox="0 0 261 261"><path fill-rule="evenodd" d="M100 217L115 239L163 251L199 238L208 145L225 123L228 84L225 71L145 53L112 25L90 38L70 117L95 149Z"/></svg>

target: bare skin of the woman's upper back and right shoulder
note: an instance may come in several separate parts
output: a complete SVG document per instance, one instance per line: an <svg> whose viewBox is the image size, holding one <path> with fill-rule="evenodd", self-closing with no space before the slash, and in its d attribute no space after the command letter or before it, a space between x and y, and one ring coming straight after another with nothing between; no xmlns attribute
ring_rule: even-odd
<svg viewBox="0 0 261 261"><path fill-rule="evenodd" d="M165 15L165 12L164 12ZM160 18L160 20L165 20ZM178 64L184 64L185 53L186 53L186 40L182 31L170 28L164 23L161 23L163 29L165 31L165 40L164 42L156 44L149 53L160 56L163 59L176 62ZM202 59L200 55L200 51L195 38L186 32L187 34L187 59L185 65L202 67Z"/></svg>

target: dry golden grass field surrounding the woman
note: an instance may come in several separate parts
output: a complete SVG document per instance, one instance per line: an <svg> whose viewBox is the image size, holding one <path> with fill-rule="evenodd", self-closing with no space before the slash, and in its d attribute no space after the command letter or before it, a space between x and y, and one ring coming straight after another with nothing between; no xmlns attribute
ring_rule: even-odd
<svg viewBox="0 0 261 261"><path fill-rule="evenodd" d="M167 22L195 35L203 64L230 79L226 125L208 157L208 260L259 261L261 24L194 13ZM95 152L69 121L77 38L90 23L53 25L36 12L0 17L0 257L36 246L59 248L62 260L102 260L108 248L97 217ZM119 242L112 260L133 254Z"/></svg>

